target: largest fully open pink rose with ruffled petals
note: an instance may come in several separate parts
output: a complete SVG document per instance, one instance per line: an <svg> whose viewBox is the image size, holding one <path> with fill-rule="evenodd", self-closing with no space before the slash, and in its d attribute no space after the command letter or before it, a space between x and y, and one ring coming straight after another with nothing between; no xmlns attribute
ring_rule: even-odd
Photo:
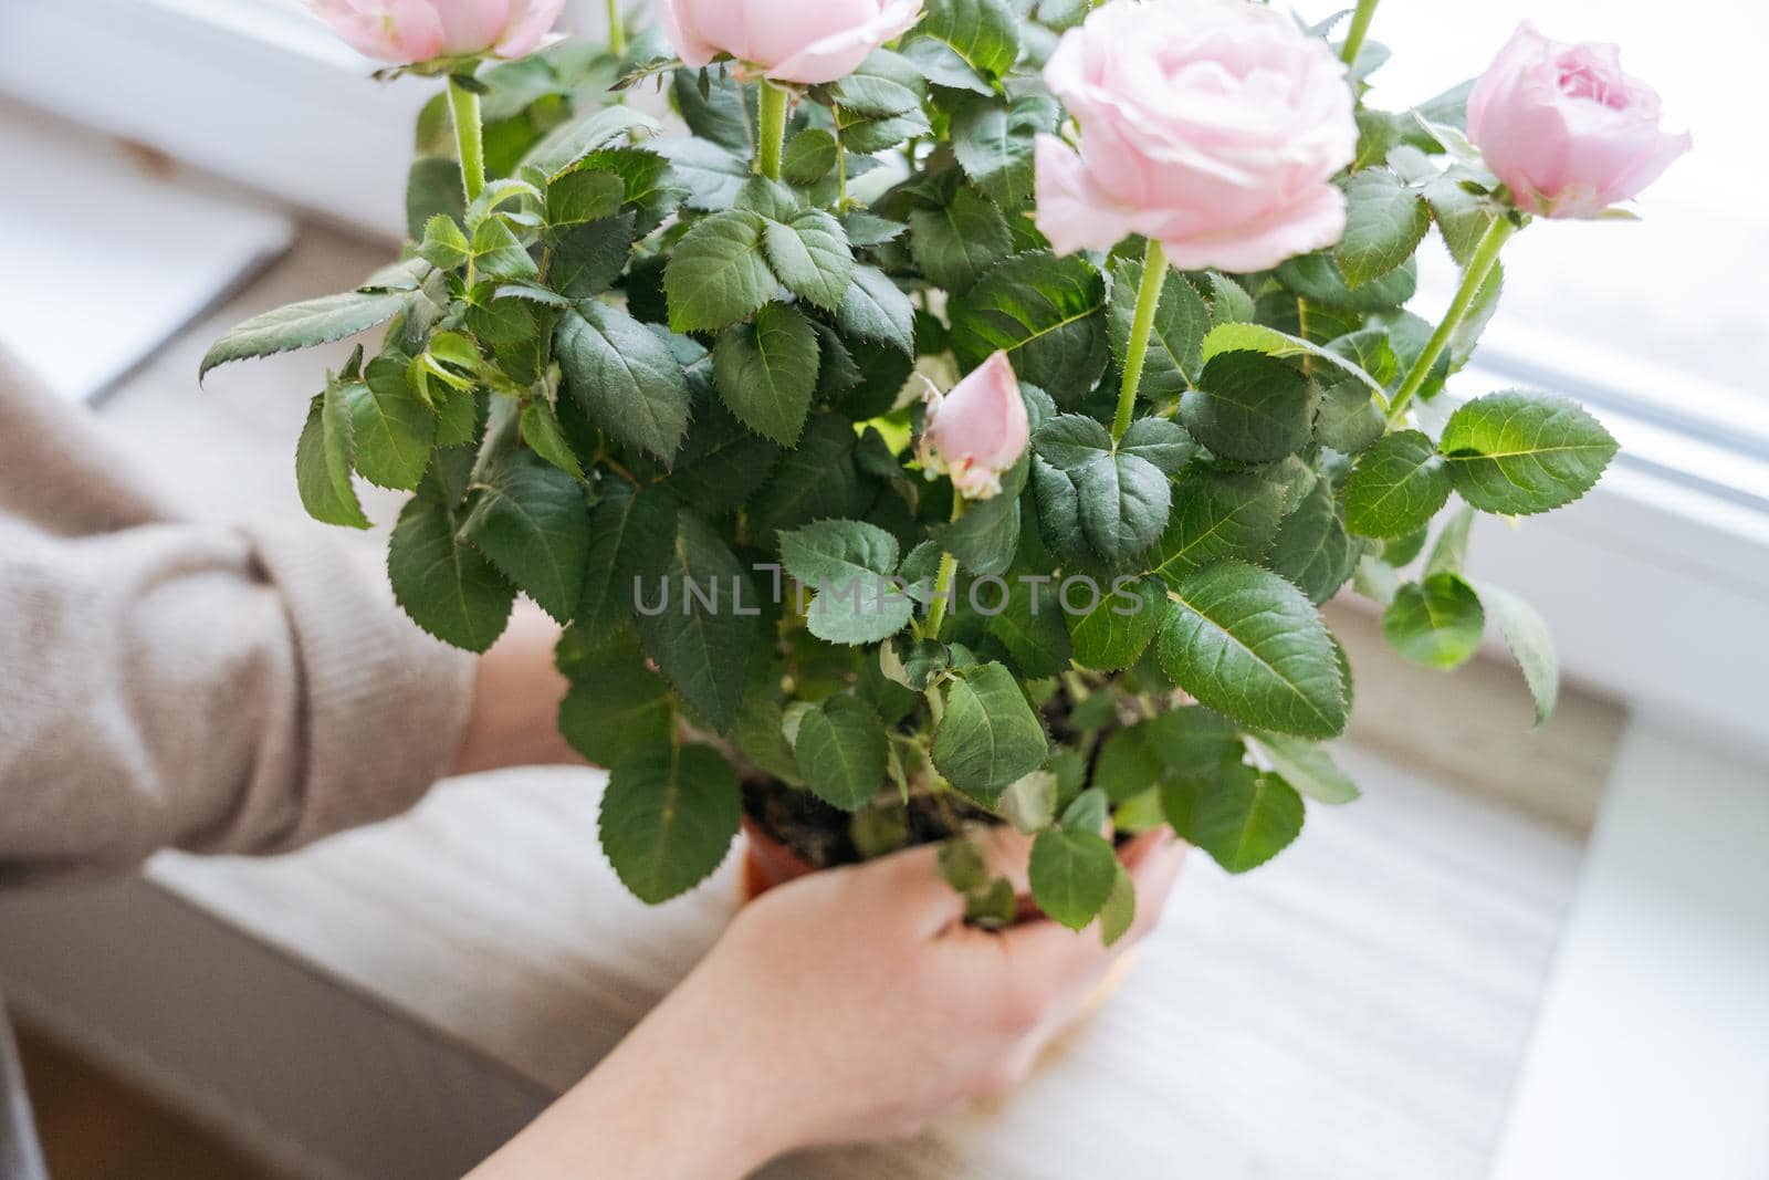
<svg viewBox="0 0 1769 1180"><path fill-rule="evenodd" d="M1152 237L1183 271L1263 271L1344 234L1334 173L1357 122L1344 65L1249 0L1118 0L1067 32L1044 78L1081 154L1037 143L1037 223L1058 253Z"/></svg>

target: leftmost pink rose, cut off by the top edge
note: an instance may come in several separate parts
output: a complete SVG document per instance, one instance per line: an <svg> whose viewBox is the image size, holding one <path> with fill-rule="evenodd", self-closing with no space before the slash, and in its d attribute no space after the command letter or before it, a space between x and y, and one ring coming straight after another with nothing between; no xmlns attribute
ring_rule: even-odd
<svg viewBox="0 0 1769 1180"><path fill-rule="evenodd" d="M564 0L308 0L352 50L382 62L524 57L559 19Z"/></svg>

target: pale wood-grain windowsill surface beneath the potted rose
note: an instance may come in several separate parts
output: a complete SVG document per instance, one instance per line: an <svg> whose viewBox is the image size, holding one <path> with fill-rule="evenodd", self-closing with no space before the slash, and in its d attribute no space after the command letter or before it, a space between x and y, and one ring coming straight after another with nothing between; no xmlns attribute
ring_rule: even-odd
<svg viewBox="0 0 1769 1180"><path fill-rule="evenodd" d="M223 368L202 395L196 357L221 322L348 287L377 260L310 232L106 418L193 497L226 487L223 511L295 511L304 400L343 347ZM389 508L370 499L379 520ZM1514 674L1376 685L1367 635L1350 630L1364 745L1344 761L1362 801L1311 808L1298 846L1247 877L1198 856L1122 992L1019 1093L909 1145L770 1175L1484 1175L1620 715L1571 701L1523 745ZM1491 798L1444 782L1451 761L1472 764ZM481 777L297 856L166 856L150 877L488 1067L557 1090L681 977L734 904L731 862L658 909L621 892L594 846L598 791L591 771ZM1535 800L1534 816L1502 796Z"/></svg>

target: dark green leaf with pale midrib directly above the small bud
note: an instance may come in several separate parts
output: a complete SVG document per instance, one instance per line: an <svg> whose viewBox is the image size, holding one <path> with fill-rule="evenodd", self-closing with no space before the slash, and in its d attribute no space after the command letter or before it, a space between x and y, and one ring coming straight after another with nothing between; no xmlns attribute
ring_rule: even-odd
<svg viewBox="0 0 1769 1180"><path fill-rule="evenodd" d="M966 370L1005 350L1019 379L1058 405L1076 405L1106 372L1106 278L1079 255L1014 255L948 306Z"/></svg>

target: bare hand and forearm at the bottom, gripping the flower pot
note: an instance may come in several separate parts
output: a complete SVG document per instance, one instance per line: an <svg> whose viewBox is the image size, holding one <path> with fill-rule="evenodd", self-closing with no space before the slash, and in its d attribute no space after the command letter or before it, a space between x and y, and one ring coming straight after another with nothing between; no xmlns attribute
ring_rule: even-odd
<svg viewBox="0 0 1769 1180"><path fill-rule="evenodd" d="M1026 863L992 839L991 860ZM713 952L577 1088L474 1176L741 1176L819 1143L913 1134L1012 1086L1155 923L1183 846L1123 853L1137 918L1104 948L1030 922L964 925L934 849L817 872L745 908Z"/></svg>

